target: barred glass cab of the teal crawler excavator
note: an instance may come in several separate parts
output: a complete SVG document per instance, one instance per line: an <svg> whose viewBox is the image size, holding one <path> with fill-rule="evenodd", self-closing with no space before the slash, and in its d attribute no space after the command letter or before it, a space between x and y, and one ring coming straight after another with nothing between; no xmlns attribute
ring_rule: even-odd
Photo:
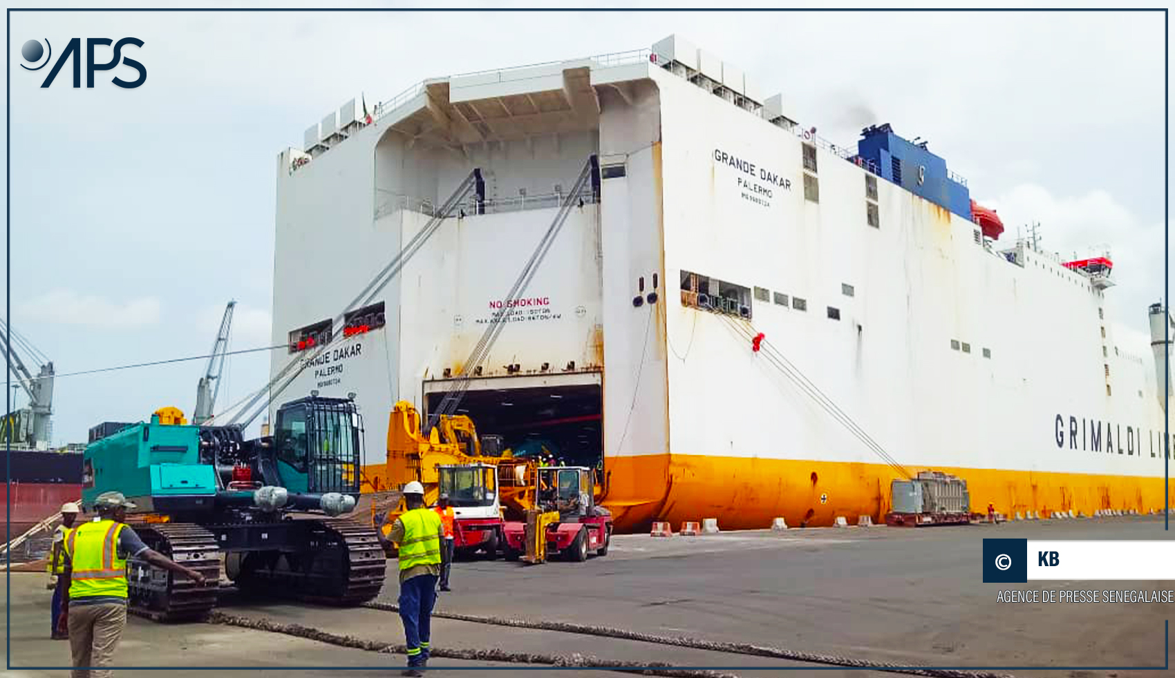
<svg viewBox="0 0 1175 678"><path fill-rule="evenodd" d="M262 460L262 475L276 474L290 491L358 494L362 432L354 400L310 396L287 402L277 411L273 455Z"/></svg>

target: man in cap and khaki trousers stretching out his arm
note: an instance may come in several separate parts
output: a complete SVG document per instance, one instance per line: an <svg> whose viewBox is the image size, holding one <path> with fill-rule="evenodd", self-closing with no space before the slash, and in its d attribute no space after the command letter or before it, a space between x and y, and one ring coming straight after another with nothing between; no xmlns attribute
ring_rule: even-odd
<svg viewBox="0 0 1175 678"><path fill-rule="evenodd" d="M66 597L58 630L69 630L73 678L109 678L114 649L127 625L127 558L183 575L199 585L204 576L160 555L123 524L135 504L119 491L106 491L94 501L98 517L86 521L66 537L66 567L61 574ZM89 667L94 667L90 671Z"/></svg>

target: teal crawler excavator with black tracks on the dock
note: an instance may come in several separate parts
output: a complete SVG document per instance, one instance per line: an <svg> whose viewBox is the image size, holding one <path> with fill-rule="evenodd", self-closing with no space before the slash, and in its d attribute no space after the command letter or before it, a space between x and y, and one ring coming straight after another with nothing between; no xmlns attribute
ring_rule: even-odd
<svg viewBox="0 0 1175 678"><path fill-rule="evenodd" d="M358 605L383 588L387 558L370 523L347 517L360 494L362 419L351 399L282 405L271 436L190 426L167 407L90 443L82 503L118 490L127 523L152 549L193 568L201 585L130 558L129 610L160 622L199 619L222 574L241 594Z"/></svg>

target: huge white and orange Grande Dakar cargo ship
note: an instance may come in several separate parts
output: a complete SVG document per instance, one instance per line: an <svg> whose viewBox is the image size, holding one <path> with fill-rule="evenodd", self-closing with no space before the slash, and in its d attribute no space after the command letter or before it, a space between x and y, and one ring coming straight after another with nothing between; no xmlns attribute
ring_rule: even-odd
<svg viewBox="0 0 1175 678"><path fill-rule="evenodd" d="M622 530L880 522L919 472L1008 516L1162 509L1167 310L1117 340L1108 252L1012 238L918 137L837 145L794 102L670 36L328 113L276 158L271 374L301 372L271 407L354 395L383 490L392 405L461 394L599 469Z"/></svg>

